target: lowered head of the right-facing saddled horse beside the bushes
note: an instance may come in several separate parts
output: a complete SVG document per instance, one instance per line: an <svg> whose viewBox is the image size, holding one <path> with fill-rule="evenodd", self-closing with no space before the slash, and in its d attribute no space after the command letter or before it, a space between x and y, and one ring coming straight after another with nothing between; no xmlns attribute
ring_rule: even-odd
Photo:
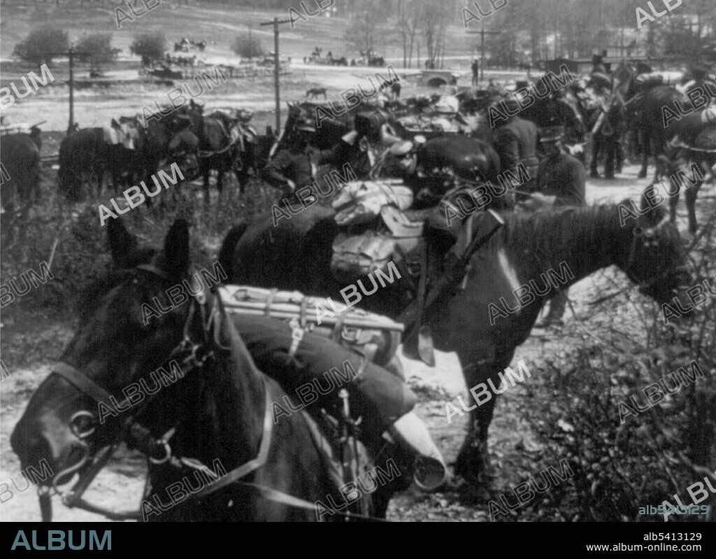
<svg viewBox="0 0 716 559"><path fill-rule="evenodd" d="M663 188L658 184L647 186L642 194L641 215L636 223L627 220L625 227L632 227L632 231L619 267L644 295L663 305L683 295L682 287L690 283L691 277L679 230L667 219L663 206L668 194L660 193L660 187ZM632 208L628 202L621 207Z"/></svg>

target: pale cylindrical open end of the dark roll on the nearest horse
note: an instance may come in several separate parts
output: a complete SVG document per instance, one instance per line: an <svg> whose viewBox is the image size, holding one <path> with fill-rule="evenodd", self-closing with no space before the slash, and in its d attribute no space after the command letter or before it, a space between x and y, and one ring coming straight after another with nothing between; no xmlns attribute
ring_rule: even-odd
<svg viewBox="0 0 716 559"><path fill-rule="evenodd" d="M413 479L417 487L432 492L448 481L445 459L418 416L412 411L405 414L393 424L391 431L416 456Z"/></svg>

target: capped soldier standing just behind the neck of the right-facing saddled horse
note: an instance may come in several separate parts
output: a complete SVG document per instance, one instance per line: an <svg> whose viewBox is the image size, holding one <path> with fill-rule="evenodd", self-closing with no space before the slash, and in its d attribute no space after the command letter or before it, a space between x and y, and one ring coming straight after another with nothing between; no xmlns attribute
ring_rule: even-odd
<svg viewBox="0 0 716 559"><path fill-rule="evenodd" d="M561 126L548 129L541 138L547 158L539 165L537 191L544 196L556 196L555 206L586 205L586 171L581 162L564 149ZM550 300L549 312L542 327L561 325L562 315L569 301L569 289L564 288Z"/></svg>

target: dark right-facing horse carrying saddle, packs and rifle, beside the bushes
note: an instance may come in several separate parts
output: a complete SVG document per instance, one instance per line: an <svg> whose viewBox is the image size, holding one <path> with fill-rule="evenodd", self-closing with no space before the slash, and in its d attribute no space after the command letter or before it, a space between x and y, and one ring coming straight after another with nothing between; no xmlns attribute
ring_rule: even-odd
<svg viewBox="0 0 716 559"><path fill-rule="evenodd" d="M664 219L663 206L642 199L638 219L624 219L623 214L624 204L502 214L505 226L471 258L464 289L444 295L435 305L438 314L426 317L435 347L458 353L468 388L498 383L498 374L527 340L543 303L560 287L599 269L618 267L659 304L672 302L674 294L682 296L679 290L690 275L679 231ZM344 285L330 272L338 231L333 210L320 206L276 226L271 216L261 216L229 232L220 258L224 269L231 270L230 282L341 300ZM549 282L551 274L559 274L563 284ZM402 274L392 285L362 297L359 305L398 318L410 304L416 282ZM363 285L369 285L366 279ZM491 398L470 408L470 429L455 464L455 472L475 484L489 472L485 450L494 405Z"/></svg>

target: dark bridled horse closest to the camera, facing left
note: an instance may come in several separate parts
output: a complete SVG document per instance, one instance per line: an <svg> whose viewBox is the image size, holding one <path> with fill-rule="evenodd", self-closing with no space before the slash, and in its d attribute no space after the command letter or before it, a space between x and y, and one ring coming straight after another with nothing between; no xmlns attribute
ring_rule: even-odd
<svg viewBox="0 0 716 559"><path fill-rule="evenodd" d="M198 290L187 287L185 301L144 320L142 308L153 298L166 301L167 290L192 282L186 221L174 222L163 249L139 247L120 220L108 228L113 270L87 289L74 338L11 434L23 467L46 461L52 471L40 493L49 500L50 488L79 474L66 502L112 517L81 496L125 441L150 457L143 520L318 520L314 503L340 493L304 416L272 421L271 403L285 393L258 371L220 297L199 281ZM142 387L145 398L122 400L127 386ZM110 395L124 412L107 412ZM193 489L197 469L214 479ZM158 501L178 505L168 497L178 497L178 483L192 496L160 511Z"/></svg>

